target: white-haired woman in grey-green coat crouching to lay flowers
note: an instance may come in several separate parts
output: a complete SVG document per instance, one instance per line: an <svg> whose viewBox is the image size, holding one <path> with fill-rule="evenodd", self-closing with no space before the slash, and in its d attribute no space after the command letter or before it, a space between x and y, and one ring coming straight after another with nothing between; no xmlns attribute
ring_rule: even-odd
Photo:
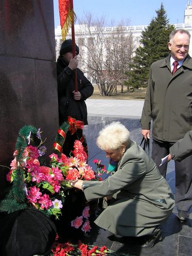
<svg viewBox="0 0 192 256"><path fill-rule="evenodd" d="M152 247L162 239L160 224L175 205L169 185L120 122L105 126L97 145L106 157L118 161L117 172L104 181L70 181L71 186L82 189L88 201L113 195L95 223L121 236L144 236L140 247Z"/></svg>

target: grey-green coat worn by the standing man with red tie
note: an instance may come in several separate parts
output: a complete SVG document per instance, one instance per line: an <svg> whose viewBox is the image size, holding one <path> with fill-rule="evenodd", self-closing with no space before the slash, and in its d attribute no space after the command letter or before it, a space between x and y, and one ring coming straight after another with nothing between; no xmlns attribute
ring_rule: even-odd
<svg viewBox="0 0 192 256"><path fill-rule="evenodd" d="M189 55L171 76L170 55L153 62L141 116L142 129L160 141L176 142L192 127L192 59Z"/></svg>

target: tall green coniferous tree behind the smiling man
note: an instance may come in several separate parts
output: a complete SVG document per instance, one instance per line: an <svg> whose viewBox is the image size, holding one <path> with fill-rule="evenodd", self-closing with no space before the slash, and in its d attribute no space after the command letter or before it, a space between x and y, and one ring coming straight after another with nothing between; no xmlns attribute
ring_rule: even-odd
<svg viewBox="0 0 192 256"><path fill-rule="evenodd" d="M125 83L129 87L136 89L146 87L152 62L169 54L167 43L169 34L175 27L169 25L163 4L156 13L157 17L152 18L149 26L142 31L141 46L136 49L135 57L130 63L130 70L126 72L128 80Z"/></svg>

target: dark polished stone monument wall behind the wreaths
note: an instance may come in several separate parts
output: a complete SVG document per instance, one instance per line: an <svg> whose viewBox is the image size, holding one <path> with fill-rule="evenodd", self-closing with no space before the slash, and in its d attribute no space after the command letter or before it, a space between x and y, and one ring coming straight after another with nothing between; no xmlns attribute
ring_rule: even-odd
<svg viewBox="0 0 192 256"><path fill-rule="evenodd" d="M59 127L52 0L0 0L0 164L18 131L41 127L48 153ZM8 168L0 166L0 198Z"/></svg>

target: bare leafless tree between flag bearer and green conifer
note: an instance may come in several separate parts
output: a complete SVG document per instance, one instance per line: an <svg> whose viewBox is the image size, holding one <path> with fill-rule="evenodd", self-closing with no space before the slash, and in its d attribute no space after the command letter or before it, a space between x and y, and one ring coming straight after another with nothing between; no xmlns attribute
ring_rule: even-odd
<svg viewBox="0 0 192 256"><path fill-rule="evenodd" d="M106 27L105 17L93 19L92 14L85 14L79 19L76 32L81 69L91 76L98 85L102 96L117 92L117 85L124 78L133 53L133 39L127 24L122 21L116 27L111 22Z"/></svg>

